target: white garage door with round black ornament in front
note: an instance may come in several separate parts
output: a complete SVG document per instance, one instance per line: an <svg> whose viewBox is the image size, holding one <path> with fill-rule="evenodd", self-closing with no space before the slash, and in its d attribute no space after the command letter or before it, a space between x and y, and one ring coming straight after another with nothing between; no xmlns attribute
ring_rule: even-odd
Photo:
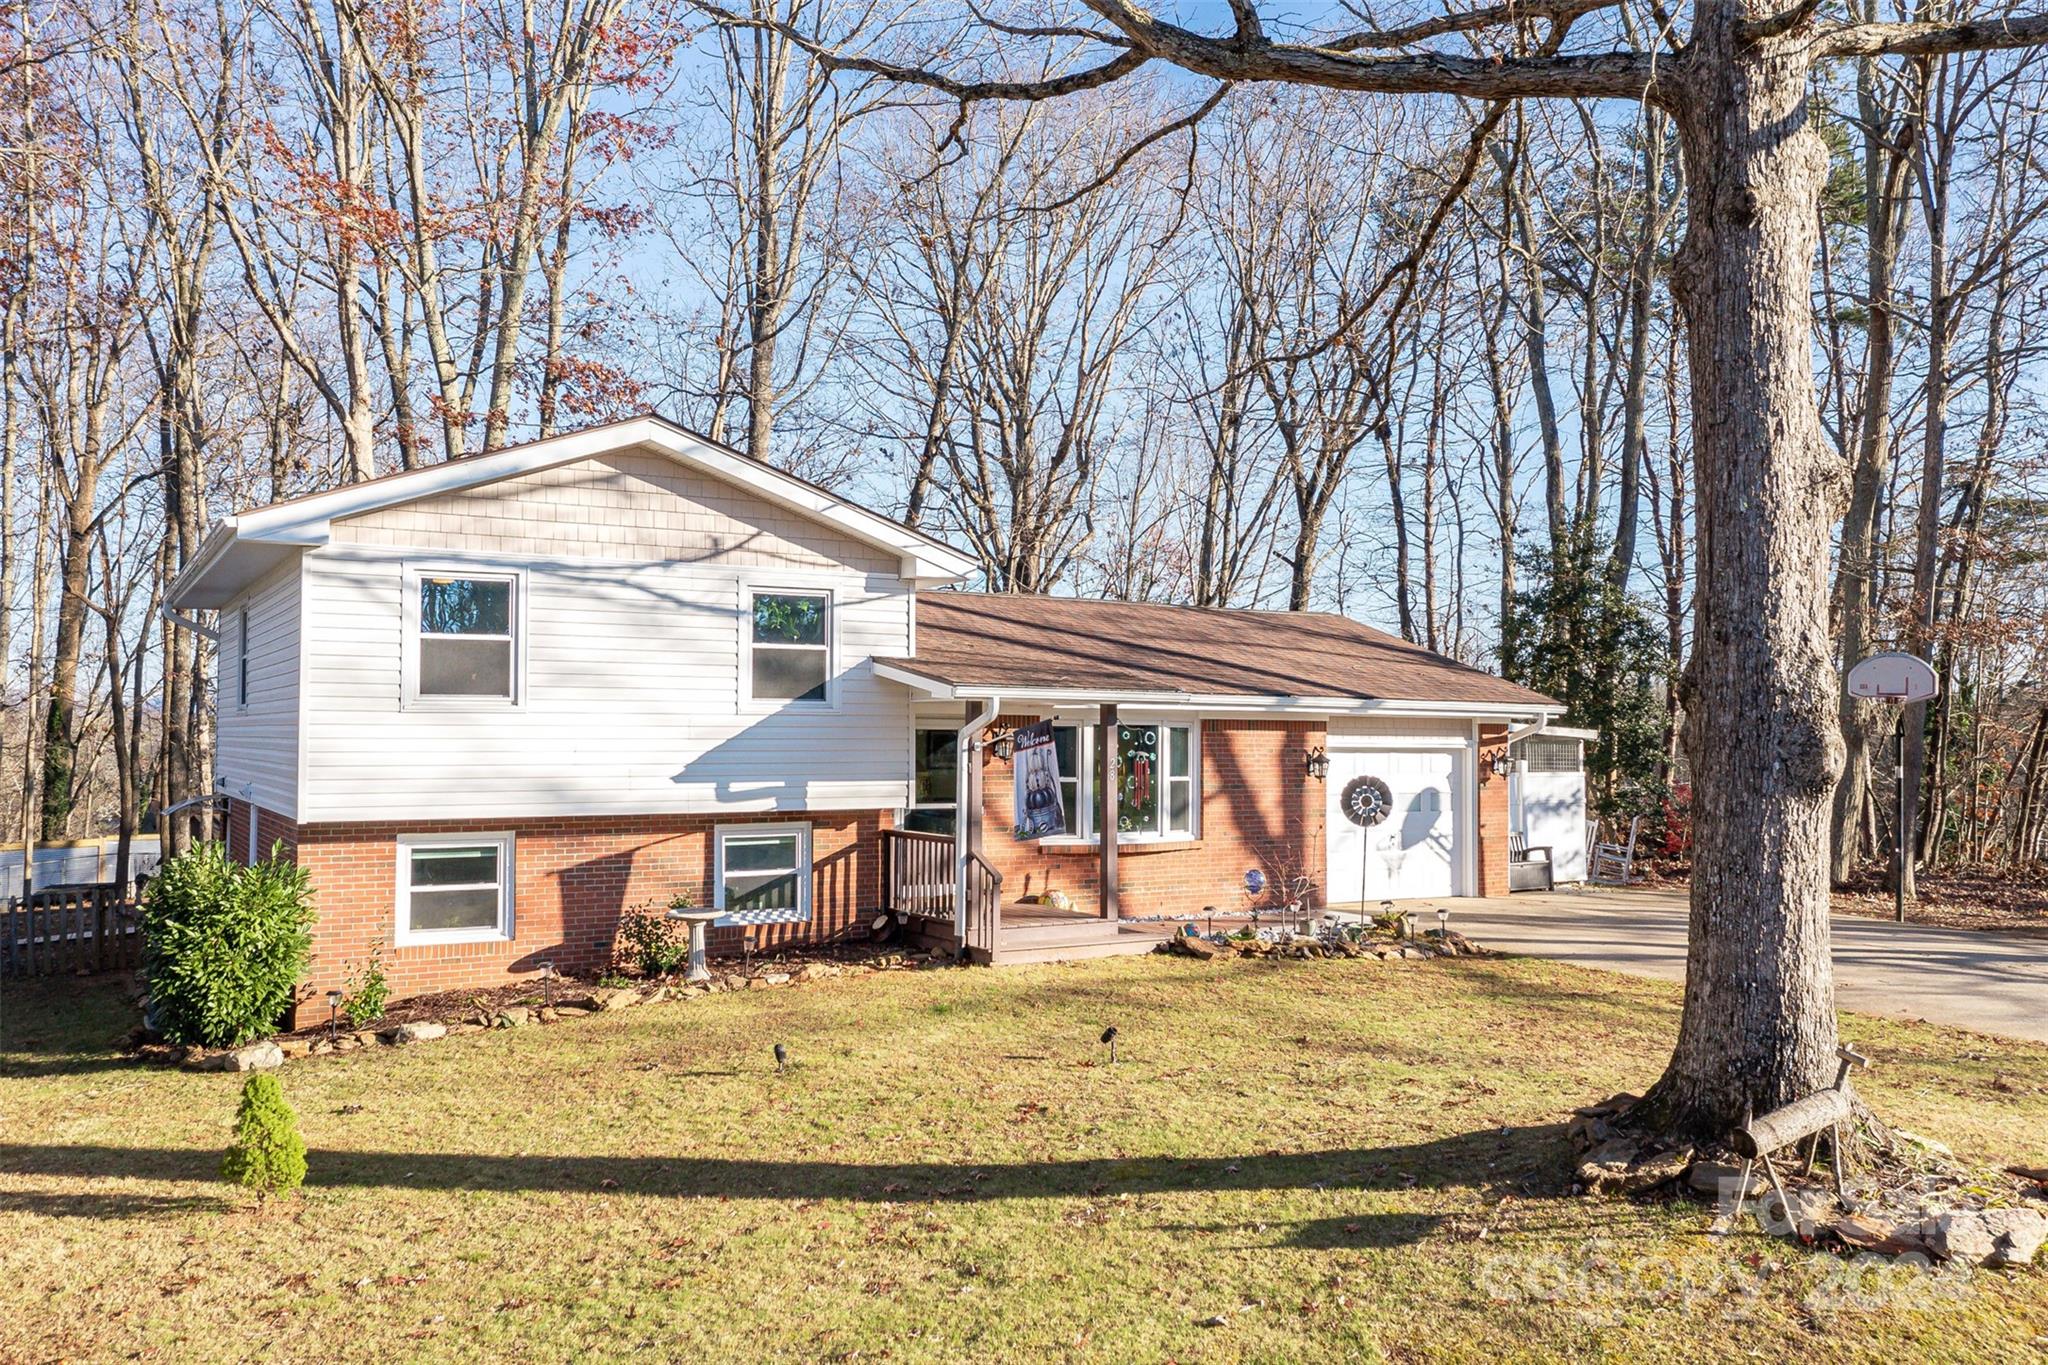
<svg viewBox="0 0 2048 1365"><path fill-rule="evenodd" d="M1329 755L1329 898L1403 900L1458 894L1462 862L1462 749L1378 749ZM1352 778L1372 776L1393 792L1393 812L1372 829L1343 819L1337 800Z"/></svg>

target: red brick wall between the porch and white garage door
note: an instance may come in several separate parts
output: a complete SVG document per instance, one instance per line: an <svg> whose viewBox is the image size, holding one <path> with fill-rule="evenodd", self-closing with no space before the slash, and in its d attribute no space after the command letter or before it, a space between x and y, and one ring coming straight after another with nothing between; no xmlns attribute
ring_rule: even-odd
<svg viewBox="0 0 2048 1365"><path fill-rule="evenodd" d="M1030 724L1004 716L995 729ZM1241 911L1245 870L1282 886L1311 878L1323 894L1323 782L1305 769L1309 749L1327 745L1321 720L1204 720L1202 835L1192 843L1118 843L1116 888L1122 915ZM1010 829L1010 763L983 749L983 843L1004 874L1004 898L1063 890L1081 909L1100 909L1100 849L1016 841ZM1276 898L1268 894L1268 902Z"/></svg>

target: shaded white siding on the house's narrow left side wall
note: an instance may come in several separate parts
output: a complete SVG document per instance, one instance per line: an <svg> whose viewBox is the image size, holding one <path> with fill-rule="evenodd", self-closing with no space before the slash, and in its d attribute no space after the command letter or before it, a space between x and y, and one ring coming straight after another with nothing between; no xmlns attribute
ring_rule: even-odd
<svg viewBox="0 0 2048 1365"><path fill-rule="evenodd" d="M287 819L299 814L299 606L293 561L221 612L213 653L217 784Z"/></svg>

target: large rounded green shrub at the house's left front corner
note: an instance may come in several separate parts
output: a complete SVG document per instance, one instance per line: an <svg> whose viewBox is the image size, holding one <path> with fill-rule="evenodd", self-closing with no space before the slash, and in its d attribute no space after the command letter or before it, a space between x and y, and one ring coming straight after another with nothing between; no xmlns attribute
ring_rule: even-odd
<svg viewBox="0 0 2048 1365"><path fill-rule="evenodd" d="M219 843L172 857L141 907L154 1027L207 1048L268 1033L305 976L311 925L311 880L283 845L252 868Z"/></svg>

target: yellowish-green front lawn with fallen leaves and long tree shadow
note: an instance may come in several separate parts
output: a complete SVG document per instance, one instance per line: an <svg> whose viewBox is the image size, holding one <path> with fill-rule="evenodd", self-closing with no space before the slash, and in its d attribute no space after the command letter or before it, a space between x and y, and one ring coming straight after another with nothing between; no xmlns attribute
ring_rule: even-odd
<svg viewBox="0 0 2048 1365"><path fill-rule="evenodd" d="M1653 1078L1675 1011L1520 960L719 995L293 1062L311 1177L258 1207L215 1179L236 1076L113 1056L109 990L8 984L0 1361L2042 1347L2044 1271L1855 1275L1694 1203L1565 1197L1563 1117ZM2048 1162L2048 1048L1845 1027L1882 1113Z"/></svg>

